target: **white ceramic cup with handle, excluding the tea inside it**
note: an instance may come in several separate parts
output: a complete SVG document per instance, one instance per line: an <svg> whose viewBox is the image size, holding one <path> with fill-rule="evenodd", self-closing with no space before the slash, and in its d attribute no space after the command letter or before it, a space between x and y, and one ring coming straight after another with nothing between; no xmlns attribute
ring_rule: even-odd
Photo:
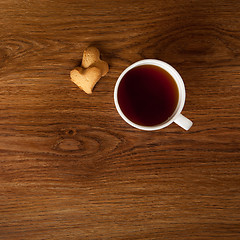
<svg viewBox="0 0 240 240"><path fill-rule="evenodd" d="M154 66L164 69L173 77L173 79L175 80L177 87L178 87L179 98L178 98L178 104L177 104L175 111L173 112L172 116L170 118L168 118L165 122L155 125L155 126L143 126L143 125L139 125L139 124L132 122L123 114L123 112L119 106L119 103L118 103L118 87L119 87L119 84L120 84L122 78L129 70L131 70L135 67L138 67L138 66L142 66L142 65L154 65ZM141 61L133 63L132 65L127 67L119 76L119 78L116 82L115 88L114 88L114 103L115 103L116 109L117 109L118 113L120 114L120 116L123 118L124 121L126 121L131 126L141 129L141 130L146 130L146 131L162 129L162 128L170 125L172 122L175 122L176 124L178 124L180 127L184 128L185 130L189 130L193 123L191 120L189 120L188 118L184 117L181 114L181 111L185 104L185 98L186 98L185 86L184 86L183 80L182 80L181 76L179 75L179 73L168 63L165 63L163 61L156 60L156 59L141 60Z"/></svg>

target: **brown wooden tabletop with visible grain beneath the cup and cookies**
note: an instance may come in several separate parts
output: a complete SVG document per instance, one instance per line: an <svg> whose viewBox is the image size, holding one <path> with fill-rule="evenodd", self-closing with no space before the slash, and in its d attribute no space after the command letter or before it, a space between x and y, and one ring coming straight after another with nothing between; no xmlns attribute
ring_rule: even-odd
<svg viewBox="0 0 240 240"><path fill-rule="evenodd" d="M110 72L69 81L83 49ZM194 126L128 126L129 64L173 65ZM239 1L0 1L0 239L239 239Z"/></svg>

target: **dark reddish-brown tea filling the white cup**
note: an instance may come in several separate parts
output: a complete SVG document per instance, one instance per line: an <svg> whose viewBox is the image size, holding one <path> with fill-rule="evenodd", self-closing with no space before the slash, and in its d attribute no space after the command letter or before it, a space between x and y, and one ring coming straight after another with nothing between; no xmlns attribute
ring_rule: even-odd
<svg viewBox="0 0 240 240"><path fill-rule="evenodd" d="M118 103L132 122L155 126L168 120L178 104L178 86L173 77L155 65L129 70L118 87Z"/></svg>

